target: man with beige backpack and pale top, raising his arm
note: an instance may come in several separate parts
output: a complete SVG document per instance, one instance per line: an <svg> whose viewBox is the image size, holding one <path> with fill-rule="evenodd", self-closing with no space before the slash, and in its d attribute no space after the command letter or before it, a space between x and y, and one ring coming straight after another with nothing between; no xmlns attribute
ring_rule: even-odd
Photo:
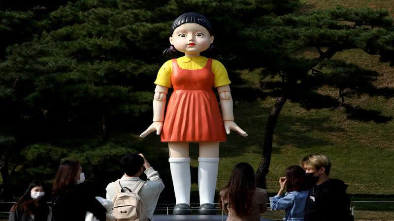
<svg viewBox="0 0 394 221"><path fill-rule="evenodd" d="M153 212L164 189L159 173L149 165L143 154L122 158L120 166L125 174L106 188L106 198L114 203L112 215L123 221L153 221ZM143 172L147 181L139 178Z"/></svg>

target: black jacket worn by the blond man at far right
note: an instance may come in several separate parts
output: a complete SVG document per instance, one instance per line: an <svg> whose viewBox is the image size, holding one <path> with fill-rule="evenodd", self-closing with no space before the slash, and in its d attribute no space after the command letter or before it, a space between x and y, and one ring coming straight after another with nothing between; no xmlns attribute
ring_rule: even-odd
<svg viewBox="0 0 394 221"><path fill-rule="evenodd" d="M315 185L306 199L304 221L353 221L347 187L338 179Z"/></svg>

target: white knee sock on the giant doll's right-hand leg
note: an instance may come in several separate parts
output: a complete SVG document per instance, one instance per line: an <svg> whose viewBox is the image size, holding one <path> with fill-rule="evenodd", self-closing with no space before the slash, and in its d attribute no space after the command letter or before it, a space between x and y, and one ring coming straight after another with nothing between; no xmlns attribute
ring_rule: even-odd
<svg viewBox="0 0 394 221"><path fill-rule="evenodd" d="M198 158L198 192L200 205L203 203L213 204L218 178L219 158Z"/></svg>

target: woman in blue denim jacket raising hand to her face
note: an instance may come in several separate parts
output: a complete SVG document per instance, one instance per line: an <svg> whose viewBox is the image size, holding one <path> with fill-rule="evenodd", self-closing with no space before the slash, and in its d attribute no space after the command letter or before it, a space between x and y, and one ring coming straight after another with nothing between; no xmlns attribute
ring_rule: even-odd
<svg viewBox="0 0 394 221"><path fill-rule="evenodd" d="M280 190L270 197L271 210L285 210L284 221L303 221L308 186L305 180L305 170L293 165L286 168L286 176L279 178ZM285 190L287 193L283 195Z"/></svg>

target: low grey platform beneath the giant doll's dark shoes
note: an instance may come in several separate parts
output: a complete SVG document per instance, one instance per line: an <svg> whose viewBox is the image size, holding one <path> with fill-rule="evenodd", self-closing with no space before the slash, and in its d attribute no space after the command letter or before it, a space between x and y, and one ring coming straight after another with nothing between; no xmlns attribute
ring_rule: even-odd
<svg viewBox="0 0 394 221"><path fill-rule="evenodd" d="M222 215L154 215L154 221L222 221ZM223 216L223 221L227 220L227 216ZM261 221L273 221L261 218Z"/></svg>

